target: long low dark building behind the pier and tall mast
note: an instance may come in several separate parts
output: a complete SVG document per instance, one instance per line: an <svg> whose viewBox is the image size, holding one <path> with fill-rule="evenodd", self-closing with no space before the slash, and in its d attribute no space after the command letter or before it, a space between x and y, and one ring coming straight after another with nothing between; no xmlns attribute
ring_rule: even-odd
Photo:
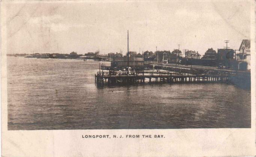
<svg viewBox="0 0 256 157"><path fill-rule="evenodd" d="M126 67L128 66L128 58L127 57L114 57L111 62L111 66L116 67ZM132 66L144 66L143 57L129 57L129 67Z"/></svg>

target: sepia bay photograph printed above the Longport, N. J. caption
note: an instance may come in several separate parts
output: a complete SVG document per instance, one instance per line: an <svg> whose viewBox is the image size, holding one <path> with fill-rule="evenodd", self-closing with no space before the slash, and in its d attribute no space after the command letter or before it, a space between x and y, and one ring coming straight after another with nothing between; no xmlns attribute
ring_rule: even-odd
<svg viewBox="0 0 256 157"><path fill-rule="evenodd" d="M250 2L4 3L8 130L251 128Z"/></svg>

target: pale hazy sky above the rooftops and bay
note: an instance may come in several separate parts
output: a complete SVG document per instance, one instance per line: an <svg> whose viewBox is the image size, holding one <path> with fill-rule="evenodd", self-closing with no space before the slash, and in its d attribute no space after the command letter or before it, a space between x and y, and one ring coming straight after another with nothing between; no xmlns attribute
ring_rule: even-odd
<svg viewBox="0 0 256 157"><path fill-rule="evenodd" d="M16 2L16 3L14 3ZM7 53L101 54L238 49L250 39L248 1L13 1L5 7Z"/></svg>

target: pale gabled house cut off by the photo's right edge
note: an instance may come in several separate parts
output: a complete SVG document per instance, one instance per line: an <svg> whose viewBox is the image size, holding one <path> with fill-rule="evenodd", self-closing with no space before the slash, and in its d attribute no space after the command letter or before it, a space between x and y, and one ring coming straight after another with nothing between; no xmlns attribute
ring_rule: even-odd
<svg viewBox="0 0 256 157"><path fill-rule="evenodd" d="M238 49L239 53L236 54L239 70L251 69L251 42L248 39L242 40L242 43Z"/></svg>

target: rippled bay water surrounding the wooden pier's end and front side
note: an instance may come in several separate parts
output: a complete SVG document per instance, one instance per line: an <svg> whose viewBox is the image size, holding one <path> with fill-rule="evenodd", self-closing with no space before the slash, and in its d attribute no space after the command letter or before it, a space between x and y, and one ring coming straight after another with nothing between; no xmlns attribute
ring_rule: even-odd
<svg viewBox="0 0 256 157"><path fill-rule="evenodd" d="M251 126L250 91L231 85L96 88L98 61L24 57L7 61L9 130Z"/></svg>

